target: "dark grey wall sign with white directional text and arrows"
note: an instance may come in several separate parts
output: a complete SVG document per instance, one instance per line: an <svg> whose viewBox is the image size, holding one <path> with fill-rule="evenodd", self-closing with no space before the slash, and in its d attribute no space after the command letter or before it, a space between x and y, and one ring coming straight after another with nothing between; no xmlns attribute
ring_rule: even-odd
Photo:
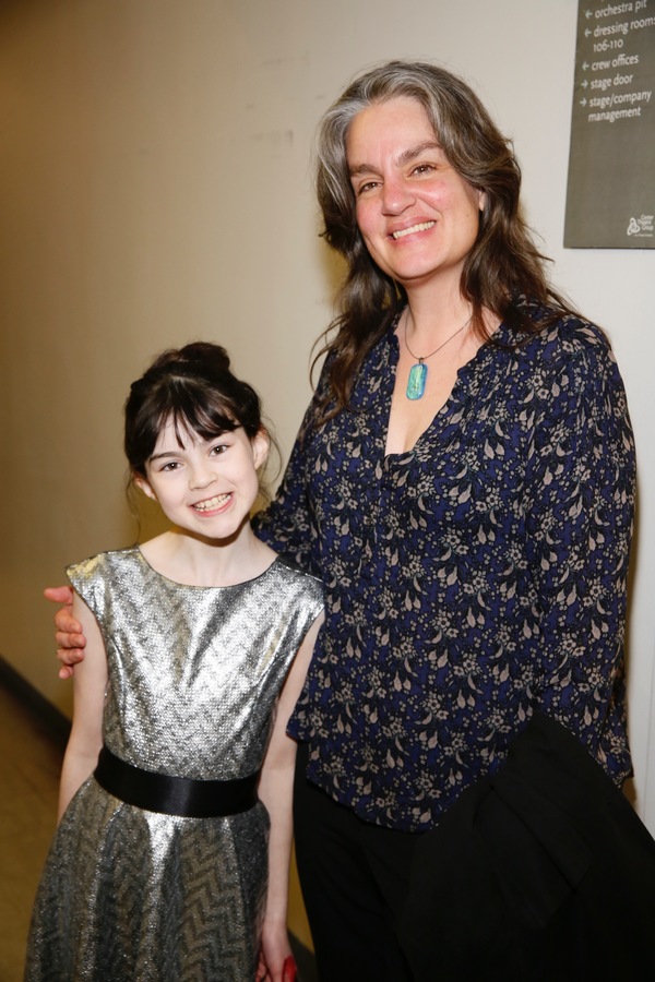
<svg viewBox="0 0 655 982"><path fill-rule="evenodd" d="M580 0L564 246L655 249L655 0Z"/></svg>

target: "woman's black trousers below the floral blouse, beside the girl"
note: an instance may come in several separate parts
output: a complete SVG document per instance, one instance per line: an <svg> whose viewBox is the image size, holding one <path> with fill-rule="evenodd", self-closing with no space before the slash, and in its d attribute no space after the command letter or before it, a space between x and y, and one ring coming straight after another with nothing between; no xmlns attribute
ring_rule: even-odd
<svg viewBox="0 0 655 982"><path fill-rule="evenodd" d="M419 836L362 822L305 777L298 749L296 859L321 982L410 982L396 927Z"/></svg>

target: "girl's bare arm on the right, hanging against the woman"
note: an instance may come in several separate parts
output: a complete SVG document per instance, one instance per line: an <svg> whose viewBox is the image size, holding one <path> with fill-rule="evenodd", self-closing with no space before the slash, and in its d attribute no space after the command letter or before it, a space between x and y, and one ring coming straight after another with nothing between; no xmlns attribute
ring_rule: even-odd
<svg viewBox="0 0 655 982"><path fill-rule="evenodd" d="M258 979L270 979L272 982L286 982L286 979L291 978L288 974L285 978L284 966L285 960L291 955L287 935L287 903L296 742L287 736L286 728L300 697L322 621L323 615L321 614L305 636L282 690L259 787L259 795L266 805L271 817L271 836L269 840L269 891Z"/></svg>

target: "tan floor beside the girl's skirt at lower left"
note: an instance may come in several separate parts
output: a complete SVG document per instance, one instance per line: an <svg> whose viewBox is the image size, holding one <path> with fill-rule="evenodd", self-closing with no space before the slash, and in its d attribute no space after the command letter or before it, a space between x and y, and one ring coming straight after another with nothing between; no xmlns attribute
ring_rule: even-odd
<svg viewBox="0 0 655 982"><path fill-rule="evenodd" d="M0 979L23 978L25 939L55 831L63 746L20 696L0 685Z"/></svg>

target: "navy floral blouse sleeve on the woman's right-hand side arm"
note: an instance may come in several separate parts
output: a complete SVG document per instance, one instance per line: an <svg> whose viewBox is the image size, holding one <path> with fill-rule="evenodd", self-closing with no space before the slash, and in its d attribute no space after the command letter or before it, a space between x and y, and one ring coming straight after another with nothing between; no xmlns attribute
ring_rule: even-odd
<svg viewBox="0 0 655 982"><path fill-rule="evenodd" d="M538 638L535 697L620 781L629 768L623 634L634 445L605 342L567 361L547 402L526 484L536 607L525 610L524 631Z"/></svg>

